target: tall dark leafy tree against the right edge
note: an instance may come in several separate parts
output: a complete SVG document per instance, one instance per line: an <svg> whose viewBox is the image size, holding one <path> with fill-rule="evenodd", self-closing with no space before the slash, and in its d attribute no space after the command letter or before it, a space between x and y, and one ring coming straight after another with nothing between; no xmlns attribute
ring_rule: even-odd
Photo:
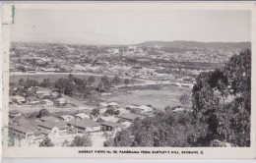
<svg viewBox="0 0 256 163"><path fill-rule="evenodd" d="M251 51L234 55L223 69L203 73L193 87L194 116L208 125L208 144L215 139L250 145Z"/></svg>

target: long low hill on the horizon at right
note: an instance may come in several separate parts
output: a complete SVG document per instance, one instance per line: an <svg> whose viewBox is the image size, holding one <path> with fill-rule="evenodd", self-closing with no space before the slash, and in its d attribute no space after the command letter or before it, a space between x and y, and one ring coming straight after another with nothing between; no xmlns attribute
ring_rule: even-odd
<svg viewBox="0 0 256 163"><path fill-rule="evenodd" d="M251 48L251 42L197 42L197 41L147 41L138 46L160 46L173 48L218 48L244 49Z"/></svg>

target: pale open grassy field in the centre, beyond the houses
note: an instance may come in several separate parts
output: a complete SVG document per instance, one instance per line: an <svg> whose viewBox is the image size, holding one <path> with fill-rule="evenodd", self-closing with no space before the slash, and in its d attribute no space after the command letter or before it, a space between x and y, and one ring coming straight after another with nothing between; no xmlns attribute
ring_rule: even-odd
<svg viewBox="0 0 256 163"><path fill-rule="evenodd" d="M126 90L119 89L111 95L101 96L101 99L122 104L151 104L153 107L163 110L167 105L171 107L181 105L179 97L183 93L191 94L191 90L172 85L148 85Z"/></svg>

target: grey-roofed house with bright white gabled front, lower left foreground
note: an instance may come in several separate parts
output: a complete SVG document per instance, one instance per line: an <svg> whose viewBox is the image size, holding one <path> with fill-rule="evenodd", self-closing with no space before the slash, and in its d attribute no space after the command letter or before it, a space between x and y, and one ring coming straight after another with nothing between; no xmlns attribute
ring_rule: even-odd
<svg viewBox="0 0 256 163"><path fill-rule="evenodd" d="M38 125L41 130L50 132L52 135L68 135L69 128L63 121L46 121Z"/></svg>

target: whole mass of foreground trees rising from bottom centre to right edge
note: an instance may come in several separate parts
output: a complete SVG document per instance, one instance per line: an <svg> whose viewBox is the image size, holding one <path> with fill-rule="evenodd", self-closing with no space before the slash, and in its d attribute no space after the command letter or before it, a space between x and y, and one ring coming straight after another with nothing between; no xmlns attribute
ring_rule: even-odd
<svg viewBox="0 0 256 163"><path fill-rule="evenodd" d="M186 104L188 97L180 100ZM169 107L136 119L104 146L250 146L251 51L232 56L223 69L200 74L192 103L192 112Z"/></svg>

